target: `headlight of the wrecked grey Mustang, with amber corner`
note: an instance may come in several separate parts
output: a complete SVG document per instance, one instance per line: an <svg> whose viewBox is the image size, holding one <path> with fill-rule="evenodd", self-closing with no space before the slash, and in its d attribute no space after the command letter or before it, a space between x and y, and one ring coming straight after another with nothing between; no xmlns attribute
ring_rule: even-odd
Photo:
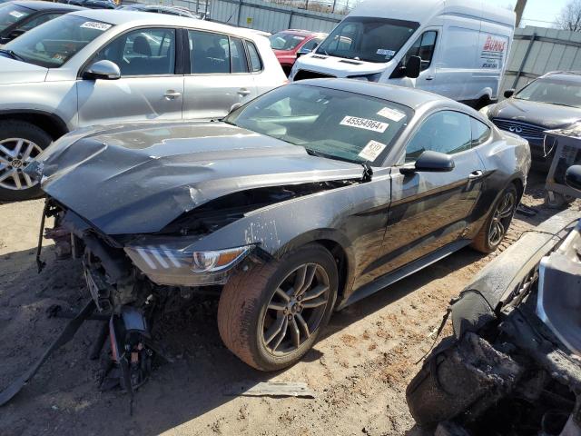
<svg viewBox="0 0 581 436"><path fill-rule="evenodd" d="M152 282L168 286L205 286L228 281L234 267L254 245L196 252L163 243L127 246L125 253Z"/></svg>

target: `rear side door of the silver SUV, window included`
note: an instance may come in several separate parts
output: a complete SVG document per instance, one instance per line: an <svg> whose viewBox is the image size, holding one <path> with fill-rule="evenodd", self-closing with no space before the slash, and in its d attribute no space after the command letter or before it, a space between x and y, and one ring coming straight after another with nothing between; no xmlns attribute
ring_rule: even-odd
<svg viewBox="0 0 581 436"><path fill-rule="evenodd" d="M184 79L183 117L222 118L233 104L256 97L254 75L240 38L188 30L190 74Z"/></svg>

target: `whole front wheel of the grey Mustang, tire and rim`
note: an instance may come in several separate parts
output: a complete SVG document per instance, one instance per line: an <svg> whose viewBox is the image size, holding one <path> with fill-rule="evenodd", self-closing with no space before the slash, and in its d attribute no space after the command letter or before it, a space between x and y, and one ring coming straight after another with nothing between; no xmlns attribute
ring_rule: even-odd
<svg viewBox="0 0 581 436"><path fill-rule="evenodd" d="M291 366L310 350L329 322L338 286L333 256L316 243L238 272L220 297L222 341L258 370Z"/></svg>

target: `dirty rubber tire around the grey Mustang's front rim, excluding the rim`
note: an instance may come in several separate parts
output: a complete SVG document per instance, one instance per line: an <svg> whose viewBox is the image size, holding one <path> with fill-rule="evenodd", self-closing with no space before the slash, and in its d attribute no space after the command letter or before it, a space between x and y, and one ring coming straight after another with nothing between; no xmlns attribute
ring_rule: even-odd
<svg viewBox="0 0 581 436"><path fill-rule="evenodd" d="M303 264L317 264L329 278L328 302L316 330L300 346L284 355L274 355L263 343L262 320L276 288ZM285 254L281 260L254 265L248 272L238 272L222 290L218 306L218 329L222 342L241 361L261 371L278 371L310 350L327 325L337 298L338 272L333 256L323 246L310 243ZM322 309L321 309L322 312Z"/></svg>

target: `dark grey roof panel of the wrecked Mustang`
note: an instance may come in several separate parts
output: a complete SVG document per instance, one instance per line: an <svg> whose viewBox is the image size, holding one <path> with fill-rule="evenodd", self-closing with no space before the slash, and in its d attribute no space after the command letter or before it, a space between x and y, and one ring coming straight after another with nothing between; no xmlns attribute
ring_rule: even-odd
<svg viewBox="0 0 581 436"><path fill-rule="evenodd" d="M338 89L349 93L368 95L369 97L389 100L390 102L403 104L418 109L420 106L432 102L444 101L450 105L457 105L459 109L464 110L467 106L459 104L441 95L428 93L414 88L406 88L394 84L376 84L374 82L364 82L354 79L309 79L292 84L308 84L311 86L320 86L324 88Z"/></svg>

